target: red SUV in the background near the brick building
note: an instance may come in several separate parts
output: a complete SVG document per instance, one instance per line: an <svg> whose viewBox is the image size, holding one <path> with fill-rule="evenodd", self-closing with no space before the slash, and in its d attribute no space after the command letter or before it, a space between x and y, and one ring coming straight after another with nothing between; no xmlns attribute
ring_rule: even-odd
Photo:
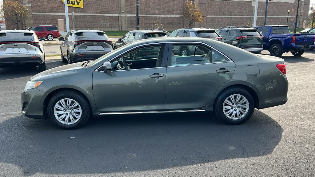
<svg viewBox="0 0 315 177"><path fill-rule="evenodd" d="M53 40L55 37L60 37L57 26L53 25L32 26L27 28L26 30L35 31L38 38L46 37L46 39L48 39L49 41Z"/></svg>

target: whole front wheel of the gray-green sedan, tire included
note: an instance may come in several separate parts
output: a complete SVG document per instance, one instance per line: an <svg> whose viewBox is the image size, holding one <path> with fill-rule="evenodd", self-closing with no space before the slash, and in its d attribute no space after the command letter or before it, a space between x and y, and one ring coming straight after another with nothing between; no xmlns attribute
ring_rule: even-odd
<svg viewBox="0 0 315 177"><path fill-rule="evenodd" d="M61 91L49 100L48 117L59 128L79 128L88 121L91 115L88 103L89 101L76 91Z"/></svg>

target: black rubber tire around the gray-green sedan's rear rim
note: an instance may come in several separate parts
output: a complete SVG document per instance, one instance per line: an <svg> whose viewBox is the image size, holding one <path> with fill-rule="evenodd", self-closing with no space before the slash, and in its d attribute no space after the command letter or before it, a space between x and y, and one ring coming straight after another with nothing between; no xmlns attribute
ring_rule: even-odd
<svg viewBox="0 0 315 177"><path fill-rule="evenodd" d="M223 112L223 103L224 103L224 101L230 95L233 95L233 94L241 94L241 95L243 95L248 100L248 103L249 103L249 109L247 111L247 114L244 117L242 117L242 118L240 118L238 120L232 120L232 119L226 117L224 112ZM233 106L236 106L236 107L233 107L231 109L235 110L236 108L238 108L236 103ZM231 124L231 125L239 125L239 124L242 124L242 123L246 122L253 115L254 110L255 110L255 101L254 101L253 96L247 90L245 90L244 88L232 87L232 88L228 88L227 90L223 91L220 95L218 95L217 100L215 102L214 109L215 109L216 116L222 122L227 123L227 124Z"/></svg>

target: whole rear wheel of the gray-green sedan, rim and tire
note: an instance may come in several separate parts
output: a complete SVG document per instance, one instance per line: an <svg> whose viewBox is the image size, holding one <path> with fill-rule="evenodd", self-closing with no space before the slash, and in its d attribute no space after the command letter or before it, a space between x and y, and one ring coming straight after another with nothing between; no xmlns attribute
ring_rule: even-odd
<svg viewBox="0 0 315 177"><path fill-rule="evenodd" d="M244 88L233 87L222 92L215 102L215 114L223 122L238 125L246 122L255 109L253 96Z"/></svg>

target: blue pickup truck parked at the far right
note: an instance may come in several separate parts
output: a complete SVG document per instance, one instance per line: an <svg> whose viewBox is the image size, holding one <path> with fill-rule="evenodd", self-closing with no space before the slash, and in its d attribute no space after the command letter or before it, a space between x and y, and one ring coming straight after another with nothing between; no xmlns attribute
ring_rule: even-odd
<svg viewBox="0 0 315 177"><path fill-rule="evenodd" d="M285 52L294 56L301 56L305 50L315 47L313 33L290 34L289 26L255 26L263 38L263 49L268 50L272 56L281 57Z"/></svg>

